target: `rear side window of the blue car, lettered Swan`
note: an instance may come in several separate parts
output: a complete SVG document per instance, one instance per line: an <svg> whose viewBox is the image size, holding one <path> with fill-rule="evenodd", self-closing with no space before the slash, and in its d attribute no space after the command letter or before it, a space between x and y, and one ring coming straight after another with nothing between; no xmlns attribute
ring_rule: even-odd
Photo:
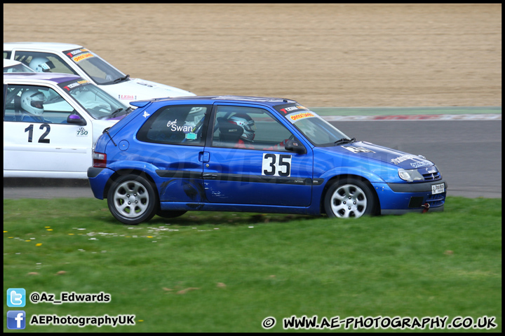
<svg viewBox="0 0 505 336"><path fill-rule="evenodd" d="M203 123L210 109L211 106L165 106L142 125L137 139L157 144L202 146Z"/></svg>

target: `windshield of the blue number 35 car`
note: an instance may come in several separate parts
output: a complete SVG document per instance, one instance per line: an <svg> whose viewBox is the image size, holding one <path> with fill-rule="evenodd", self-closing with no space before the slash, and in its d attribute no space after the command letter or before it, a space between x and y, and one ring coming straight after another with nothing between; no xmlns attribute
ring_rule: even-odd
<svg viewBox="0 0 505 336"><path fill-rule="evenodd" d="M335 146L335 141L349 139L343 132L316 113L309 111L307 115L309 116L298 118L292 123L315 146Z"/></svg>

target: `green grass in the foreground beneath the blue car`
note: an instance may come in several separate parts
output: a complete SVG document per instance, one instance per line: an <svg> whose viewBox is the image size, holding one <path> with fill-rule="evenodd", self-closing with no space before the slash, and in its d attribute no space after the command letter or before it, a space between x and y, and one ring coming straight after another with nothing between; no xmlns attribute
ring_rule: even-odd
<svg viewBox="0 0 505 336"><path fill-rule="evenodd" d="M26 332L263 332L267 316L281 332L293 315L496 316L499 332L501 199L447 197L443 213L349 221L193 212L137 226L100 200L4 200L4 297L8 288L112 297L27 302L28 318L135 314L134 326ZM4 316L11 309L4 299Z"/></svg>

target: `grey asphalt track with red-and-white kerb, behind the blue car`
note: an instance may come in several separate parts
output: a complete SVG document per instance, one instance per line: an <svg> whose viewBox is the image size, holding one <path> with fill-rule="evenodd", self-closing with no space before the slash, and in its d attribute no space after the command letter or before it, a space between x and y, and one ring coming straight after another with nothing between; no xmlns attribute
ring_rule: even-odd
<svg viewBox="0 0 505 336"><path fill-rule="evenodd" d="M494 115L490 116L485 116L487 113L482 109L445 114L440 111L426 113L426 110L409 113L405 109L377 113L375 109L373 115L356 109L353 113L321 109L314 108L314 111L324 115L349 137L422 154L435 162L447 181L447 195L501 198L501 107L493 108L499 109L499 114L492 111ZM339 114L347 118L339 118ZM451 114L454 118L444 117ZM438 117L422 117L429 115ZM464 115L468 117L462 117ZM484 117L475 118L478 115ZM377 119L377 116L387 118ZM4 179L4 198L58 197L93 197L93 193L87 180Z"/></svg>

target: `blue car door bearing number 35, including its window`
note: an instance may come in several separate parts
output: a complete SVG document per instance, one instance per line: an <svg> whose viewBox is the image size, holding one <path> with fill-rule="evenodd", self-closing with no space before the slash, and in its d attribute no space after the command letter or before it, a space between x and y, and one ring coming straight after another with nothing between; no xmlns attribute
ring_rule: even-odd
<svg viewBox="0 0 505 336"><path fill-rule="evenodd" d="M313 153L284 148L295 135L267 109L215 104L203 186L208 202L308 207ZM210 142L210 144L209 144ZM210 145L210 146L209 146Z"/></svg>

